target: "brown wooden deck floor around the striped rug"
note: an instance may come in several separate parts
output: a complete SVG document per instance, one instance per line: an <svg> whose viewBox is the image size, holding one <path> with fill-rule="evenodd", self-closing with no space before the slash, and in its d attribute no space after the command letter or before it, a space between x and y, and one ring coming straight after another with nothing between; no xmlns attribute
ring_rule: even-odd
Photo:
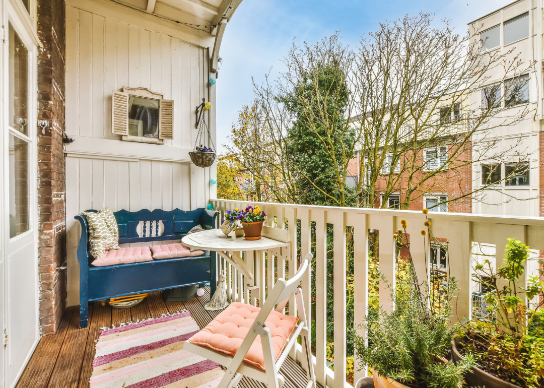
<svg viewBox="0 0 544 388"><path fill-rule="evenodd" d="M92 359L95 353L95 340L100 328L118 327L123 322L137 321L160 317L162 314L189 310L191 316L205 327L220 311L203 309L209 300L209 288L202 297L187 302L165 303L160 293L149 295L138 306L131 309L112 309L109 305L95 303L89 307L89 325L79 329L79 309L68 307L56 334L41 338L32 358L24 369L17 388L88 388L92 372ZM306 374L289 358L280 372L285 377L286 388L305 387L302 381ZM240 381L239 388L265 388L264 384L245 378ZM189 387L191 388L191 387Z"/></svg>

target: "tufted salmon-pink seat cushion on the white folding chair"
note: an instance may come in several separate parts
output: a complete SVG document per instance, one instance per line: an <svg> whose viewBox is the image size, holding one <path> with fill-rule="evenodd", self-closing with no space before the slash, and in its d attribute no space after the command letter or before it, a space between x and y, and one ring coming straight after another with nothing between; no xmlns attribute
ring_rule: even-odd
<svg viewBox="0 0 544 388"><path fill-rule="evenodd" d="M242 341L261 311L259 307L233 302L205 328L189 338L189 342L207 346L233 356L238 352ZM298 318L272 311L264 324L270 329L274 357L279 358L289 335L295 328ZM261 336L257 336L244 361L264 370L264 357Z"/></svg>

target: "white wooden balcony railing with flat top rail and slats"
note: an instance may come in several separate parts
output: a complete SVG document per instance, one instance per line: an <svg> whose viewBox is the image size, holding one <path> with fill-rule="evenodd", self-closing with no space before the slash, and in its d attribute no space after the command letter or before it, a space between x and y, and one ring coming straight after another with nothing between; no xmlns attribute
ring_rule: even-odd
<svg viewBox="0 0 544 388"><path fill-rule="evenodd" d="M387 279L395 277L395 243L393 234L400 229L400 220L407 221L407 233L417 236L410 240L418 279L429 279L430 265L428 236L421 236L424 229L425 215L421 211L380 210L368 208L345 208L326 206L305 206L290 204L268 204L259 202L238 202L227 200L211 200L214 209L221 212L234 208L245 208L248 205L259 205L268 215L268 226L285 229L288 222L286 236L290 242L289 249L274 252L273 260L268 260L268 270L265 271L265 256L252 256L254 252L244 252L246 265L255 273L254 282L246 282L244 276L232 268L225 260L218 258L218 273L225 270L227 278L227 294L231 300L243 301L258 305L264 301L266 290L270 289L277 278L292 275L296 272L296 253L299 245L300 254L304 257L311 252L311 222L316 223L315 249L315 315L306 317L306 322L314 320L316 323L316 354L314 357L317 382L325 386L340 388L348 387L346 381L346 227L354 228L354 326L364 323L368 306L368 236L369 229L378 230L379 238L379 268ZM449 255L449 273L455 276L459 283L459 297L454 303L453 320L461 317L470 317L472 309L472 250L474 243L494 244L497 247L497 256L502 260L502 252L507 238L517 238L528 244L531 249L544 250L544 218L540 217L503 217L480 214L438 213L429 212L432 233L435 237L447 238ZM296 222L301 221L300 241L297 241ZM327 224L333 226L333 330L334 330L334 371L326 366L326 281L327 281ZM282 233L284 233L282 231ZM280 233L281 234L281 233ZM254 260L249 260L250 258ZM248 264L252 262L254 264ZM277 264L275 276L274 264ZM266 276L265 276L266 272ZM254 284L253 284L254 283ZM248 286L248 284L250 284ZM306 311L312 314L311 274L302 280ZM524 286L524 281L520 284ZM380 280L380 290L386 290L386 285ZM294 298L289 301L289 313L295 314ZM379 293L379 303L384 309L394 308L389 292ZM364 333L359 333L364 335ZM299 353L300 353L299 349ZM293 353L293 358L300 355ZM357 360L355 360L357 365ZM354 381L362 377L364 371L355 372Z"/></svg>

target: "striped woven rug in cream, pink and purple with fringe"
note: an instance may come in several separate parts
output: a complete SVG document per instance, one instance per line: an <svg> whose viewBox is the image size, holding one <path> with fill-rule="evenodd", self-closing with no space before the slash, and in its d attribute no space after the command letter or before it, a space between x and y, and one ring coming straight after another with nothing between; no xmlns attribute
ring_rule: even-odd
<svg viewBox="0 0 544 388"><path fill-rule="evenodd" d="M182 312L102 331L90 387L217 387L224 374L219 365L183 349L199 330Z"/></svg>

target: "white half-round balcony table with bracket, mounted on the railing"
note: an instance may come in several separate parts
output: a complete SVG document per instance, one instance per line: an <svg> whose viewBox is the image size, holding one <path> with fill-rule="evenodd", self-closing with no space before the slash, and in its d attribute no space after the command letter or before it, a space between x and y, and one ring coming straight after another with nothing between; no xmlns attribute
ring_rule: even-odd
<svg viewBox="0 0 544 388"><path fill-rule="evenodd" d="M255 274L252 272L252 268L255 268L255 263L251 263L251 266L248 266L248 263L245 263L242 259L240 251L267 251L269 249L289 246L288 242L281 242L264 236L258 240L246 240L244 237L238 237L236 240L233 240L225 236L225 233L220 229L191 233L183 237L181 242L189 248L217 252L219 256L246 276L246 281L250 282L248 286L255 285Z"/></svg>

